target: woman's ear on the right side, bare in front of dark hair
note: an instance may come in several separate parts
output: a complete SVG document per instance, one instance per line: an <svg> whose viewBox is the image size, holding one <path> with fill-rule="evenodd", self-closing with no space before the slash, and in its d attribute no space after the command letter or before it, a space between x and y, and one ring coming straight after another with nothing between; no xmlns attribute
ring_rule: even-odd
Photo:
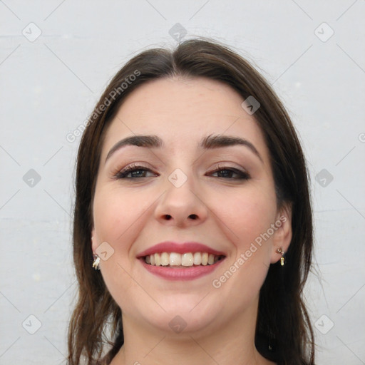
<svg viewBox="0 0 365 365"><path fill-rule="evenodd" d="M292 241L292 204L284 203L282 208L278 210L277 217L274 222L275 230L272 240L271 263L278 262L282 254L277 250L287 252L290 242Z"/></svg>

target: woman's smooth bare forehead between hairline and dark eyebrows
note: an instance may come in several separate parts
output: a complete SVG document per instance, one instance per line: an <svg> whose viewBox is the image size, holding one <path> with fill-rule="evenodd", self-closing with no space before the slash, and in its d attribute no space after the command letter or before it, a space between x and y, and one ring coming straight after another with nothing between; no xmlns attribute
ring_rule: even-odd
<svg viewBox="0 0 365 365"><path fill-rule="evenodd" d="M262 132L243 101L230 86L208 78L149 81L120 106L106 133L103 158L121 138L140 134L160 136L171 153L195 148L209 134L236 135L250 140L264 157Z"/></svg>

